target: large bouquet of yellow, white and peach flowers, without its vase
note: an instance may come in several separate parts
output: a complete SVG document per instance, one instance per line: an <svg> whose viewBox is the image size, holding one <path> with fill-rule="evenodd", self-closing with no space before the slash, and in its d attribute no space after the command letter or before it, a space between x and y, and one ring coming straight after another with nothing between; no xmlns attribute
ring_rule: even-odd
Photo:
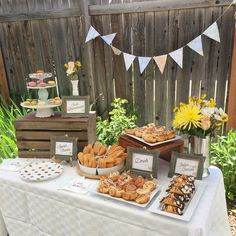
<svg viewBox="0 0 236 236"><path fill-rule="evenodd" d="M200 138L213 136L216 129L228 121L228 115L222 108L217 108L213 98L206 100L206 95L200 98L189 97L189 103L180 103L174 108L173 127L184 134Z"/></svg>

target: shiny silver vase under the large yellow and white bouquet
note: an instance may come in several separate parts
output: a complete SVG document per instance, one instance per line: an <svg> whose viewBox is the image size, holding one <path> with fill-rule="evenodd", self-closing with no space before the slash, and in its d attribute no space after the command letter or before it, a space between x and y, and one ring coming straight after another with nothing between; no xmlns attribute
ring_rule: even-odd
<svg viewBox="0 0 236 236"><path fill-rule="evenodd" d="M193 136L191 152L195 155L202 155L206 157L203 167L203 175L202 175L203 178L209 176L210 174L209 172L210 144L211 144L210 136L206 136L205 138Z"/></svg>

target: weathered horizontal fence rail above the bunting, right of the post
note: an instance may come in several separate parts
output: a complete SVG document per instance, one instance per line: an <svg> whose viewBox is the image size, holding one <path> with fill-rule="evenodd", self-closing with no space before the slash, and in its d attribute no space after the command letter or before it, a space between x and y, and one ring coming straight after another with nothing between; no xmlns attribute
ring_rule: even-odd
<svg viewBox="0 0 236 236"><path fill-rule="evenodd" d="M89 6L90 15L106 15L106 14L124 14L124 13L143 13L167 10L208 8L215 6L228 6L231 3L227 1L213 0L159 0L159 1L142 1L123 4L110 5L91 5Z"/></svg>

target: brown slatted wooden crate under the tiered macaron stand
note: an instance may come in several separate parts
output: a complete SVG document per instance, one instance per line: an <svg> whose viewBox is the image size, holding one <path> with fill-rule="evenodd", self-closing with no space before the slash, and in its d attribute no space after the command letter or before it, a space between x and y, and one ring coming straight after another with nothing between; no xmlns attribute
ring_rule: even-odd
<svg viewBox="0 0 236 236"><path fill-rule="evenodd" d="M78 151L96 140L96 114L88 118L63 118L60 112L53 117L37 118L30 113L17 119L16 129L19 157L50 158L50 137L78 138Z"/></svg>

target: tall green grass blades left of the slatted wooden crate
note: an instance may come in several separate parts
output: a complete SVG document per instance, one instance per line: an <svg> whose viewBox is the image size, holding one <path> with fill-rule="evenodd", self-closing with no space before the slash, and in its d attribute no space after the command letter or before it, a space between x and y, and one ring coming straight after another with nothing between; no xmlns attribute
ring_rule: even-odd
<svg viewBox="0 0 236 236"><path fill-rule="evenodd" d="M0 97L0 163L6 158L18 155L14 120L27 114L28 110L20 108L13 101L9 106Z"/></svg>

